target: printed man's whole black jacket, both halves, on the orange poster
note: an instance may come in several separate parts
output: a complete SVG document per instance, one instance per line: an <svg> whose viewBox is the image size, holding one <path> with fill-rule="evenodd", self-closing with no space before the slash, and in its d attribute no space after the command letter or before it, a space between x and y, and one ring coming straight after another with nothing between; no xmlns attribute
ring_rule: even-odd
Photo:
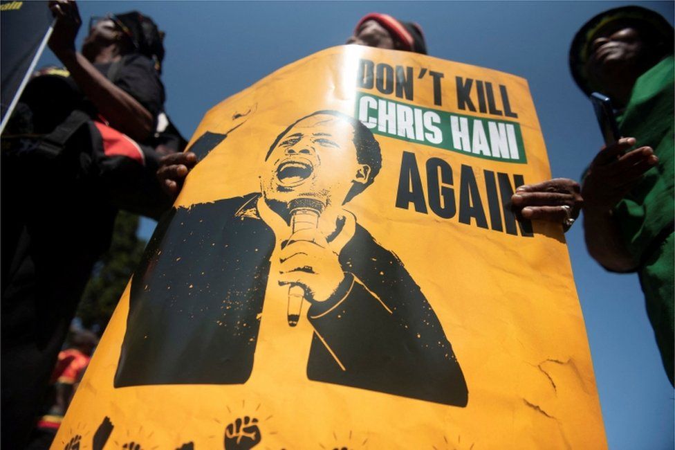
<svg viewBox="0 0 675 450"><path fill-rule="evenodd" d="M115 387L246 383L275 248L259 196L174 208L158 224L131 282ZM339 261L345 280L307 312L308 379L465 406L452 346L403 262L358 224Z"/></svg>

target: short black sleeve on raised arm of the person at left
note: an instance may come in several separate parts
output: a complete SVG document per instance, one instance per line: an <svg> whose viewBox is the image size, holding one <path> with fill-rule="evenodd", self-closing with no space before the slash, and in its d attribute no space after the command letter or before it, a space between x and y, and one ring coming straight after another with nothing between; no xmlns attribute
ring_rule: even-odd
<svg viewBox="0 0 675 450"><path fill-rule="evenodd" d="M164 107L164 85L154 63L142 55L131 55L124 61L115 85L136 98L155 119Z"/></svg>

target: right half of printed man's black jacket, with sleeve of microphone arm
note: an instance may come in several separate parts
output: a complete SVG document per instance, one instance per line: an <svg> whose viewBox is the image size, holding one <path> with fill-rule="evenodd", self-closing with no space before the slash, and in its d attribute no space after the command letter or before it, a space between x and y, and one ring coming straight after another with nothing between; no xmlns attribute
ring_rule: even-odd
<svg viewBox="0 0 675 450"><path fill-rule="evenodd" d="M358 227L340 253L340 298L312 305L309 379L466 406L452 345L403 263Z"/></svg>

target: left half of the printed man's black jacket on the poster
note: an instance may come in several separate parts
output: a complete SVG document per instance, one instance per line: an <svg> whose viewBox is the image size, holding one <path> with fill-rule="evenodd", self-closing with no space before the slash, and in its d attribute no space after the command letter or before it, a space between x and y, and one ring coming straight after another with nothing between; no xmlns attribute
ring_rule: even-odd
<svg viewBox="0 0 675 450"><path fill-rule="evenodd" d="M235 212L257 195L172 208L131 279L115 387L243 384L267 287L272 230Z"/></svg>

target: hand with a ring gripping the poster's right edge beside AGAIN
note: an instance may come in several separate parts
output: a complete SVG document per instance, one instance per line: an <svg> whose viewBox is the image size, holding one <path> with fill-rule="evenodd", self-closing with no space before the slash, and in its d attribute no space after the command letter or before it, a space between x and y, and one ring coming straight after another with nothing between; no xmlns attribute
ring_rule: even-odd
<svg viewBox="0 0 675 450"><path fill-rule="evenodd" d="M565 231L571 226L567 219L579 217L583 203L579 183L568 178L519 186L511 197L512 210L519 219L563 224Z"/></svg>

